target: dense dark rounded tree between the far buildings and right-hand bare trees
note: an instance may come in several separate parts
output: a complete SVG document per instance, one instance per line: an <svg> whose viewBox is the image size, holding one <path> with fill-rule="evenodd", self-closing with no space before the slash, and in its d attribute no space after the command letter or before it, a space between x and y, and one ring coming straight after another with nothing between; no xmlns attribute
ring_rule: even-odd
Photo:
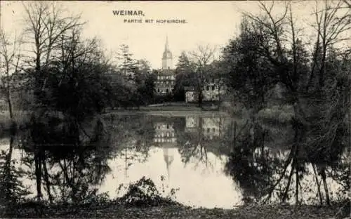
<svg viewBox="0 0 351 219"><path fill-rule="evenodd" d="M240 35L223 50L223 65L235 97L255 114L265 106L265 95L277 80L274 68L259 53L263 37L251 28L248 20L241 22Z"/></svg>

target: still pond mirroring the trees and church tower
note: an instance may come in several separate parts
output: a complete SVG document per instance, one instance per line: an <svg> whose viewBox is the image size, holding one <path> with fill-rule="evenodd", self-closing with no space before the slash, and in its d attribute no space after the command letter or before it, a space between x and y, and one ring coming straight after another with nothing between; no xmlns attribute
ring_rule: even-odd
<svg viewBox="0 0 351 219"><path fill-rule="evenodd" d="M47 173L43 190L51 190L54 197L69 197L72 190L82 193L88 186L121 197L126 189L120 185L145 176L165 195L176 189L176 200L187 206L232 208L251 201L295 201L296 181L289 176L291 164L285 166L292 140L289 125L261 124L268 133L261 142L256 132L247 128L248 121L216 112L110 114L103 125L108 127L103 132L107 138L95 141L90 150L65 153L66 147L51 145L43 163ZM84 127L83 136L94 130L93 126ZM21 146L25 135L24 131L16 136L13 158L27 171L22 180L34 197L32 154ZM7 150L8 142L8 138L2 139L0 150ZM346 152L343 154L341 163L345 162ZM301 165L298 199L318 203L317 194L324 196L326 190L317 166ZM335 169L327 168L327 173L329 196L338 199L344 185Z"/></svg>

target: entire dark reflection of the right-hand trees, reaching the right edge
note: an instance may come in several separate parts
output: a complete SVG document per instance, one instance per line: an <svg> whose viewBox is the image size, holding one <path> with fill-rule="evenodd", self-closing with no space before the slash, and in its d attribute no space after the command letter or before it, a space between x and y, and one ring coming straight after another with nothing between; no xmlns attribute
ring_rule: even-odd
<svg viewBox="0 0 351 219"><path fill-rule="evenodd" d="M237 131L230 142L233 148L225 172L232 175L243 190L244 202L295 199L296 203L300 203L304 194L308 197L306 201L312 201L311 196L315 194L320 204L323 204L323 199L329 204L328 177L342 184L344 190L350 188L345 183L349 172L345 171L345 162L340 162L345 149L340 141L345 139L347 129L340 126L332 142L333 148L323 148L316 145L317 135L312 133L313 129L306 131L306 127L300 125L292 119L291 126L280 127L286 131L280 137L272 134L274 128L263 126L260 122L251 121L242 128L234 128ZM282 150L286 148L288 153L285 156L274 156L274 144L277 142L285 145L279 145ZM312 176L307 184L303 181L306 175ZM315 193L311 194L313 191Z"/></svg>

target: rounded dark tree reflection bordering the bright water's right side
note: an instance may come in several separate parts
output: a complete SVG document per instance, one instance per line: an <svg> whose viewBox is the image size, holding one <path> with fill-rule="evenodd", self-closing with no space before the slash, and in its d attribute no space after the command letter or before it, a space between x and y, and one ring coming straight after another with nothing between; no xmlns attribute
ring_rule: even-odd
<svg viewBox="0 0 351 219"><path fill-rule="evenodd" d="M274 182L274 172L281 167L281 160L270 156L265 141L267 131L259 124L251 123L234 127L232 152L225 164L225 173L232 175L244 194L244 202L258 201L267 194Z"/></svg>

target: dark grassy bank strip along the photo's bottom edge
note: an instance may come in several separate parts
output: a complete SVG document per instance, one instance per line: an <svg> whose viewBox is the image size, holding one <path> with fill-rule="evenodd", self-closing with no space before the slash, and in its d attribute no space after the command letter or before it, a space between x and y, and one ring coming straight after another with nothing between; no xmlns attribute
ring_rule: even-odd
<svg viewBox="0 0 351 219"><path fill-rule="evenodd" d="M185 206L126 207L110 204L99 208L52 208L41 218L232 218L232 219L330 219L345 218L338 206L241 206L232 210L220 208L190 208ZM22 209L11 218L38 218L34 212Z"/></svg>

